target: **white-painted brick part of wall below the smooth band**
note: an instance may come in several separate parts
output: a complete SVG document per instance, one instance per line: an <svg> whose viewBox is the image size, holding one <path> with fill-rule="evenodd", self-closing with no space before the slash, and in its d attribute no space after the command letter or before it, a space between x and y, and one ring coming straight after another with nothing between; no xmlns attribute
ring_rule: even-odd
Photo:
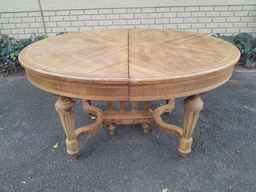
<svg viewBox="0 0 256 192"><path fill-rule="evenodd" d="M256 36L256 5L102 8L42 11L47 36L99 29L175 29ZM1 12L0 33L15 39L42 35L39 11Z"/></svg>

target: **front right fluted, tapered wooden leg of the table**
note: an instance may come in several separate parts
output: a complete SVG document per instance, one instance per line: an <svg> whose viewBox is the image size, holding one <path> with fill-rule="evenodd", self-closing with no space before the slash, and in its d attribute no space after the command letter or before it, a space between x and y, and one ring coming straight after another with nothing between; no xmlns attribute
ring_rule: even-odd
<svg viewBox="0 0 256 192"><path fill-rule="evenodd" d="M200 99L200 95L192 95L184 100L183 134L180 138L180 146L178 147L178 150L184 157L191 151L191 136L201 109L203 109L203 101Z"/></svg>

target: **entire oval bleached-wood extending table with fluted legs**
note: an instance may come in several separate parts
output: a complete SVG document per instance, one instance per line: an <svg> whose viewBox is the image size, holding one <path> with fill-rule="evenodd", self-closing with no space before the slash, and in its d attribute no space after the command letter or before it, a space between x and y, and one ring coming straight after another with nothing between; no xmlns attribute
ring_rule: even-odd
<svg viewBox="0 0 256 192"><path fill-rule="evenodd" d="M203 108L200 95L225 83L240 58L239 50L215 37L175 30L115 29L58 35L35 42L19 54L20 64L34 86L53 93L66 133L67 152L78 154L78 139L106 124L113 135L117 124L150 124L180 138L182 156L191 151L192 133ZM183 128L164 123L174 99L184 100ZM97 121L75 129L71 98L83 99L83 109ZM166 99L152 111L150 101ZM107 101L108 110L91 106ZM113 109L120 101L120 110ZM132 102L132 109L125 108ZM138 110L137 102L144 101ZM214 121L214 120L213 120Z"/></svg>

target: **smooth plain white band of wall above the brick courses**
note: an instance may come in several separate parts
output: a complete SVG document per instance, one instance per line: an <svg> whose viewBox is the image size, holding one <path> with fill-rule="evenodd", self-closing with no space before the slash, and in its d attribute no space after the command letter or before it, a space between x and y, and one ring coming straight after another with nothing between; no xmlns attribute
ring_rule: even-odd
<svg viewBox="0 0 256 192"><path fill-rule="evenodd" d="M0 12L37 11L38 0L0 0ZM256 0L40 0L42 11L104 8L255 5Z"/></svg>

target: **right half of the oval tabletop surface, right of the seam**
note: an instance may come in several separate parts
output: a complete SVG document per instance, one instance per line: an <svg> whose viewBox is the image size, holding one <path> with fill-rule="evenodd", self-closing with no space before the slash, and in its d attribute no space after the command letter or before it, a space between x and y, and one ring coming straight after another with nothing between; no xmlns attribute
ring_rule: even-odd
<svg viewBox="0 0 256 192"><path fill-rule="evenodd" d="M209 74L233 66L239 50L209 35L176 30L129 30L129 83ZM190 78L191 79L191 78ZM143 83L140 83L142 81Z"/></svg>

